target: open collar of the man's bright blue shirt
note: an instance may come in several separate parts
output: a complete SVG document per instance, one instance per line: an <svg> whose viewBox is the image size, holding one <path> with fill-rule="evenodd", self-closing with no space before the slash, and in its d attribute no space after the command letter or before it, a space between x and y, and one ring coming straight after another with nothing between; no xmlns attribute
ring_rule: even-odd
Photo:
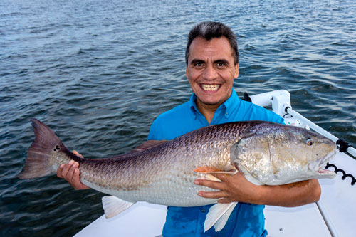
<svg viewBox="0 0 356 237"><path fill-rule="evenodd" d="M194 119L197 118L197 113L200 113L197 108L197 104L195 103L195 100L197 100L197 95L193 93L189 100L189 107ZM229 117L232 110L234 110L237 106L239 106L240 103L241 100L239 96L237 96L236 91L232 89L229 99L227 99L224 103L222 103L216 111L224 110L225 117Z"/></svg>

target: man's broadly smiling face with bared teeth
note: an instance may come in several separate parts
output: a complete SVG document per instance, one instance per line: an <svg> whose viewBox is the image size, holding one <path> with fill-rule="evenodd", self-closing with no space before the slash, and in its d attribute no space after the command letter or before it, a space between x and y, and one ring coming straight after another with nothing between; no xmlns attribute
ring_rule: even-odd
<svg viewBox="0 0 356 237"><path fill-rule="evenodd" d="M239 76L229 41L224 36L210 41L194 38L186 75L199 103L219 107L230 97L234 78Z"/></svg>

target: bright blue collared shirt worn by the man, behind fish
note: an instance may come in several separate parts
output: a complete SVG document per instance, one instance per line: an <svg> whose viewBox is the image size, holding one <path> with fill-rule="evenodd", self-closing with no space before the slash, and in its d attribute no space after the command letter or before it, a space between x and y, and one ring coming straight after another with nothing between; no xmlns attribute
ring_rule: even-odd
<svg viewBox="0 0 356 237"><path fill-rule="evenodd" d="M153 121L148 139L174 139L192 130L206 127L209 122L197 109L197 96L192 95L189 102L164 112ZM240 100L235 90L215 111L210 125L224 122L263 120L283 123L274 112ZM194 207L168 206L163 236L266 236L264 229L263 205L239 202L232 212L226 226L219 232L214 227L204 233L204 221L211 205Z"/></svg>

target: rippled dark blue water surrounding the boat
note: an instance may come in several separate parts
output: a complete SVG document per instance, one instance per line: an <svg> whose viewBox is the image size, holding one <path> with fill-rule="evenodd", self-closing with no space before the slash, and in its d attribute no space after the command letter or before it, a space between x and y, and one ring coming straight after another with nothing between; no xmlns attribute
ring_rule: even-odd
<svg viewBox="0 0 356 237"><path fill-rule="evenodd" d="M355 13L353 0L1 1L1 235L73 236L103 214L97 191L16 178L29 119L85 157L129 151L189 100L184 51L200 21L236 33L239 95L289 90L295 110L355 146Z"/></svg>

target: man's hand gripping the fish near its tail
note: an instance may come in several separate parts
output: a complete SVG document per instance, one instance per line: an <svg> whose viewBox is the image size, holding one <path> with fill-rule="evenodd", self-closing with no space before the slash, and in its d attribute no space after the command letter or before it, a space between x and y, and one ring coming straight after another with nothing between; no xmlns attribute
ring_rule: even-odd
<svg viewBox="0 0 356 237"><path fill-rule="evenodd" d="M73 154L83 158L83 156L76 151L73 151ZM90 189L80 181L80 171L78 167L78 162L74 162L73 160L71 160L68 164L61 164L61 166L57 169L57 176L66 179L66 181L68 181L68 183L73 186L75 190Z"/></svg>

